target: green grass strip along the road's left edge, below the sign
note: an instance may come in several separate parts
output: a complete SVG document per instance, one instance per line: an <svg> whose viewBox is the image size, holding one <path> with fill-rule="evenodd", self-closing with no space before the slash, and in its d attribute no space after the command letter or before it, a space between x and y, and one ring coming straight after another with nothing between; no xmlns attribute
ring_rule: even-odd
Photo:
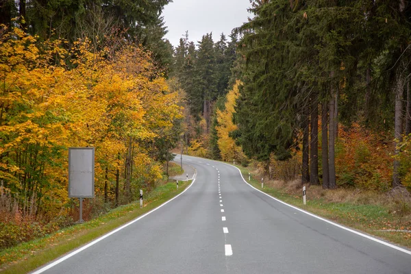
<svg viewBox="0 0 411 274"><path fill-rule="evenodd" d="M142 209L139 203L130 203L92 221L66 227L45 238L5 249L0 252L1 273L32 271L160 206L181 193L190 183L191 181L180 181L178 190L174 182L155 188L145 197Z"/></svg>

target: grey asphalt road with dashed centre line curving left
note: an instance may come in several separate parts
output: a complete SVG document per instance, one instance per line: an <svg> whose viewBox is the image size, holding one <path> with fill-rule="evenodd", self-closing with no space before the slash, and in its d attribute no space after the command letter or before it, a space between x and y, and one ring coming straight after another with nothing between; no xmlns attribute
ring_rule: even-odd
<svg viewBox="0 0 411 274"><path fill-rule="evenodd" d="M182 195L42 273L411 273L406 250L279 203L233 166L183 160L197 177Z"/></svg>

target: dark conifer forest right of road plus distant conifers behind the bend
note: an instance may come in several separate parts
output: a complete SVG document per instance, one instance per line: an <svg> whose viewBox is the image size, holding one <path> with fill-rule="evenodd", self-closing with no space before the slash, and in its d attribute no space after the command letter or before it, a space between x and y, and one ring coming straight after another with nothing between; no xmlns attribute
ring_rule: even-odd
<svg viewBox="0 0 411 274"><path fill-rule="evenodd" d="M402 186L410 171L410 1L256 0L249 12L253 17L232 34L226 66L216 62L221 41L213 51L210 34L198 49L182 39L175 51L188 108L206 121L205 154L222 157L217 129L227 125L225 113L235 127L220 133L223 147L240 146L248 158L267 164L301 153L302 183L336 188L339 125L357 132L358 124L391 136L391 186ZM224 92L216 88L218 79L227 83ZM219 99L236 79L235 103L234 91ZM226 101L235 106L231 112ZM235 158L227 149L223 154Z"/></svg>

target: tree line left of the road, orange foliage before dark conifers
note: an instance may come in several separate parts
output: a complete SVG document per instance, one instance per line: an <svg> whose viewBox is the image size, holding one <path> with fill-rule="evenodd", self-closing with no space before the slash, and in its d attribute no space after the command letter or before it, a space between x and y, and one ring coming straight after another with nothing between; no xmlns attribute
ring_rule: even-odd
<svg viewBox="0 0 411 274"><path fill-rule="evenodd" d="M173 50L161 12L169 2L1 2L3 221L69 214L68 147L96 148L101 208L162 181L182 118L166 79Z"/></svg>

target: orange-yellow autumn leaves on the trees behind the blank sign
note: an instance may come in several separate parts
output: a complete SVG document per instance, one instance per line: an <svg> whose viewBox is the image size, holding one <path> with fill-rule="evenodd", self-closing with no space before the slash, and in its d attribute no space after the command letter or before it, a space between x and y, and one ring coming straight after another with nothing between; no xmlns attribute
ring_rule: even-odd
<svg viewBox="0 0 411 274"><path fill-rule="evenodd" d="M0 155L7 155L0 179L13 182L14 192L42 192L42 206L53 212L68 201L67 147L96 148L101 184L106 166L110 176L123 169L128 136L150 140L182 116L177 92L141 48L130 45L108 59L87 39L69 50L64 43L39 42L20 29L0 38ZM161 177L147 149L138 143L133 149L141 171L135 176Z"/></svg>

